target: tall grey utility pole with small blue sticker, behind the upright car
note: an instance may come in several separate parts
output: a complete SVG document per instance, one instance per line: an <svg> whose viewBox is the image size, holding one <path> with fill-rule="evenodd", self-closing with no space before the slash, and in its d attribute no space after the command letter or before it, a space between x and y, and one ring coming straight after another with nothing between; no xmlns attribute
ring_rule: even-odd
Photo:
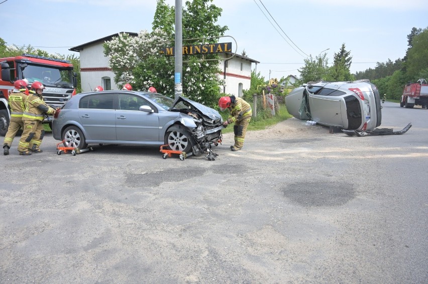
<svg viewBox="0 0 428 284"><path fill-rule="evenodd" d="M182 26L182 2L175 0L175 73L174 73L174 98L183 94L181 74L183 73L183 26Z"/></svg>

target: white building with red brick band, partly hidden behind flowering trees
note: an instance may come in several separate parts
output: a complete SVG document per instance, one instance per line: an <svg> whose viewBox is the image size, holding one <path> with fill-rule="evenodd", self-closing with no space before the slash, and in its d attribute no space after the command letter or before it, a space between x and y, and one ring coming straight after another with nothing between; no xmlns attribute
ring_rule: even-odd
<svg viewBox="0 0 428 284"><path fill-rule="evenodd" d="M123 33L121 32L121 34ZM128 32L126 34L138 35ZM104 90L118 89L114 80L115 74L109 68L109 58L104 56L102 46L104 42L110 41L118 35L110 35L69 49L80 54L82 92L92 91L96 86L101 86ZM260 62L242 55L235 54L233 57L232 55L231 53L219 54L222 58L219 67L223 71L219 77L226 82L226 86L222 87L221 92L242 97L242 91L250 89L252 63L257 65Z"/></svg>

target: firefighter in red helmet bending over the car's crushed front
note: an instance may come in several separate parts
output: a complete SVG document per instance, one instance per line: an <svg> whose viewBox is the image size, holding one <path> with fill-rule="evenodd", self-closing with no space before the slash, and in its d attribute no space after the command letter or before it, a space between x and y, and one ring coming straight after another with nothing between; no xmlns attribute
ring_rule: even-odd
<svg viewBox="0 0 428 284"><path fill-rule="evenodd" d="M226 109L230 111L230 115L223 125L227 126L228 124L235 123L233 126L235 144L231 146L231 150L239 151L244 145L245 134L247 133L247 127L251 120L251 106L242 98L230 96L221 97L219 100L219 107L221 111Z"/></svg>

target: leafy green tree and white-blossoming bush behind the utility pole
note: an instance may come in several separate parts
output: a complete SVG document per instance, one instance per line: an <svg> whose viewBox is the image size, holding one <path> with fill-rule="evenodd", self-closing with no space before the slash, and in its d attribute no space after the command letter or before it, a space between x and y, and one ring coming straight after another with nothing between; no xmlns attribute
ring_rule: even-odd
<svg viewBox="0 0 428 284"><path fill-rule="evenodd" d="M209 5L212 0L186 1L182 12L183 44L215 43L227 26L215 23L222 9ZM110 58L110 67L117 84L131 82L136 89L154 86L158 92L174 97L174 58L159 54L165 47L174 46L174 8L158 0L153 21L153 32L141 31L137 37L119 35L104 44L104 54ZM187 40L186 39L197 39ZM204 59L204 60L202 60ZM209 59L210 61L207 61ZM194 55L183 58L182 87L188 98L217 105L220 86L217 55Z"/></svg>

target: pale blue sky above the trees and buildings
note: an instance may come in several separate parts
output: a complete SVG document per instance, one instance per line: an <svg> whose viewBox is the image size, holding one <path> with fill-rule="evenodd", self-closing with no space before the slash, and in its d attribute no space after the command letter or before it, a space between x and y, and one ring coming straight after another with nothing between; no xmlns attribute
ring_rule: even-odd
<svg viewBox="0 0 428 284"><path fill-rule="evenodd" d="M183 7L186 0L182 0ZM7 45L49 53L119 32L152 30L156 0L0 0L0 38ZM175 6L176 0L165 0ZM299 77L308 56L326 53L329 63L342 44L351 52L351 73L377 62L402 59L413 27L428 27L426 0L213 0L223 9L217 24L233 51L260 63L252 69L280 79ZM17 9L18 8L18 9ZM19 16L19 12L23 16ZM185 27L183 27L185 28Z"/></svg>

